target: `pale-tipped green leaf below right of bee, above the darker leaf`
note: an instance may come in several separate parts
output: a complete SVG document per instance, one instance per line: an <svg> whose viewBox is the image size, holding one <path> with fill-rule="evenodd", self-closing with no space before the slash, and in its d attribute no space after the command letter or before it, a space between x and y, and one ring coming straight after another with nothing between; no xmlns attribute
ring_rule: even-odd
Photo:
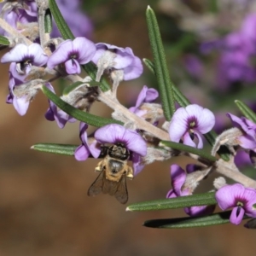
<svg viewBox="0 0 256 256"><path fill-rule="evenodd" d="M131 206L126 208L126 211L157 211L214 204L216 204L215 193L209 192L204 194L179 196L169 199L143 201L136 204L131 204Z"/></svg>

